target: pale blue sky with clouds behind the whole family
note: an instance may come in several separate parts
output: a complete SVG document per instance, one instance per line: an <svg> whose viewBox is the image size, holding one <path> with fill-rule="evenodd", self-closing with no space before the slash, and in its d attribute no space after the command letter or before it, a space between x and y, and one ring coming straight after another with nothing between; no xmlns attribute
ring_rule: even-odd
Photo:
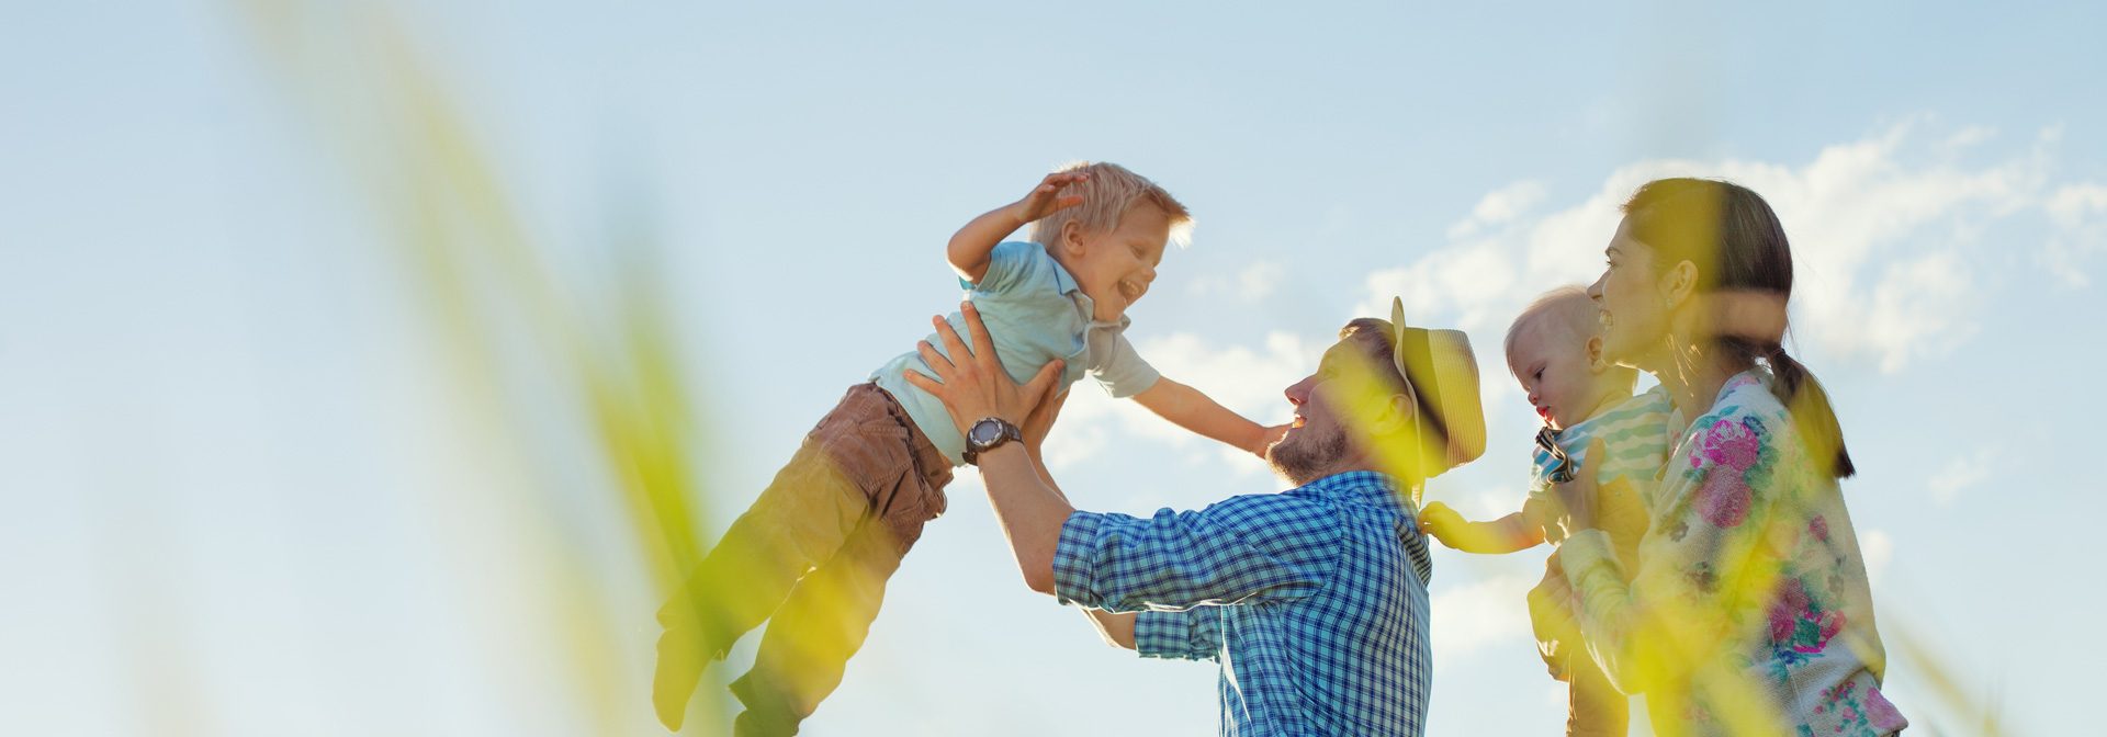
<svg viewBox="0 0 2107 737"><path fill-rule="evenodd" d="M1599 272L1639 181L1742 181L1793 236L1795 347L1858 459L1884 632L2016 733L2092 722L2050 695L2107 657L2096 4L390 8L8 11L0 731L653 726L659 594L565 368L504 295L478 297L478 364L402 248L419 162L375 103L386 27L592 341L647 265L706 539L954 305L944 238L1058 162L1195 211L1131 337L1258 419L1389 295L1471 331L1492 451L1429 497L1483 516L1519 503L1534 423L1507 320ZM1091 392L1049 457L1091 510L1279 489ZM1519 600L1540 564L1437 554L1433 733L1555 731ZM1924 668L1896 655L1888 693L1972 733ZM1026 592L967 472L807 733L1110 724L1212 733L1214 670L1123 657Z"/></svg>

